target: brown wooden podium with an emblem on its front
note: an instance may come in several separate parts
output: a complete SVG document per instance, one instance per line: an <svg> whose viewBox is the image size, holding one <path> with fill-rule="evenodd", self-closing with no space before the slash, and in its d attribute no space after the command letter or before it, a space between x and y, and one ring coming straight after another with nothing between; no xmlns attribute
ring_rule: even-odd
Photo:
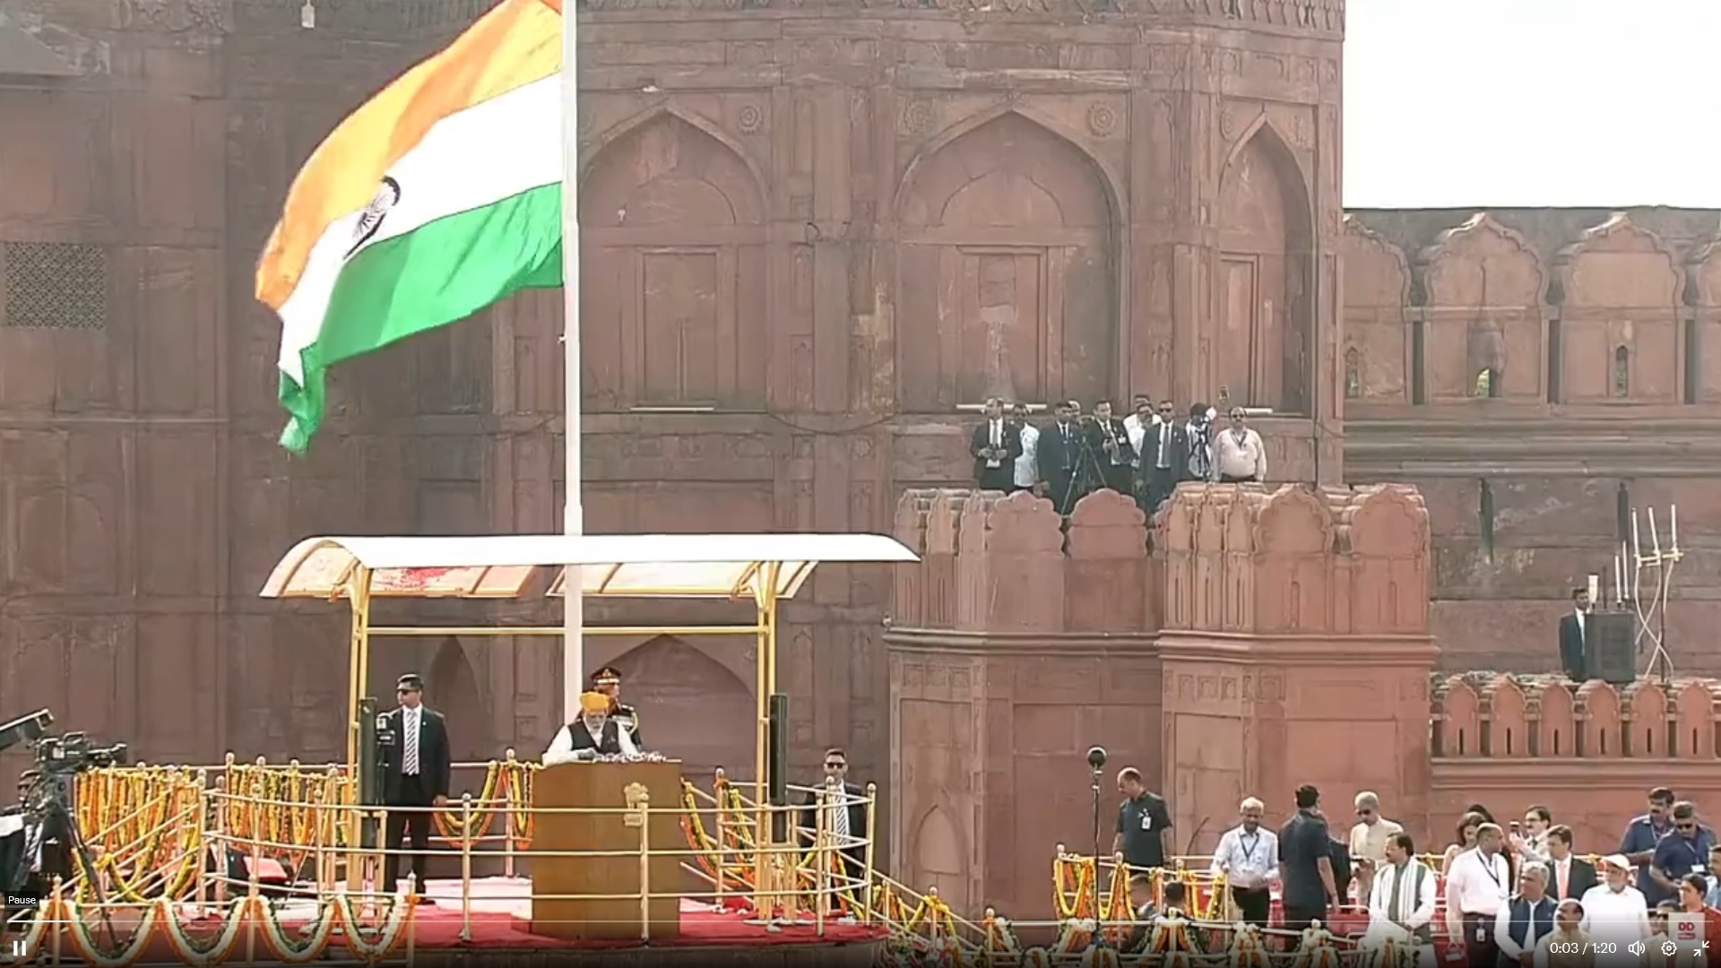
<svg viewBox="0 0 1721 968"><path fill-rule="evenodd" d="M647 837L652 849L647 877L651 934L640 925L640 828L628 816L628 787L651 796ZM532 808L602 808L613 813L537 813L532 853L626 851L618 856L534 856L532 934L570 940L659 940L682 934L682 853L687 837L676 808L682 803L682 763L559 763L532 779ZM661 811L661 813L657 813ZM657 854L657 851L666 851ZM558 899L568 894L608 894L611 899Z"/></svg>

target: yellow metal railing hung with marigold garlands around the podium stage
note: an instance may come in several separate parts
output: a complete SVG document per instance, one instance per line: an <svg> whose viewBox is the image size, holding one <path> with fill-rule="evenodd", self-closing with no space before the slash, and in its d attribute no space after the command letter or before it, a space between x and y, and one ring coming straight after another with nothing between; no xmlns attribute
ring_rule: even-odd
<svg viewBox="0 0 1721 968"><path fill-rule="evenodd" d="M792 789L797 806L750 801L743 787L719 773L712 789L682 784L678 803L654 804L640 789L626 806L558 810L554 813L621 815L640 842L611 851L534 849L535 823L549 813L532 806L535 763L509 753L501 761L456 765L477 780L478 792L439 808L379 808L358 803L351 770L301 763L239 763L219 768L126 766L93 770L76 779L74 811L89 853L96 858L98 894L81 873L57 884L45 911L29 927L28 944L46 946L52 958L76 958L107 968L124 968L160 954L165 944L188 965L213 965L224 958L303 963L324 958L341 944L363 959L377 959L404 946L411 949L413 906L401 894L382 894L382 865L391 854L377 846L375 830L399 811L429 811L435 835L432 853L460 861L461 937L472 935L473 882L489 868L511 878L523 851L532 856L570 856L618 861L633 858L638 890L626 896L566 894L554 901L614 901L640 904L642 934L649 934L654 899L690 897L719 909L750 908L756 916L809 925L824 935L833 923L879 925L876 904L898 894L879 890L873 872L871 820L866 830L838 834L826 818L835 810L866 803L876 815L874 791L864 796L840 789ZM461 785L456 777L456 785ZM651 820L673 815L685 844L659 849L649 842ZM761 830L788 832L786 842L761 842ZM244 877L229 877L212 858L237 854L250 861ZM702 882L688 889L687 877L652 884L652 861L673 856L682 872ZM265 885L268 861L279 863L289 887ZM659 880L661 880L659 872ZM401 884L410 884L403 878ZM509 890L513 894L509 894ZM263 894L296 896L310 923L284 925ZM489 884L484 903L527 901L532 889L515 878ZM100 897L100 903L98 903ZM544 894L537 894L546 899ZM451 904L453 899L441 899ZM921 908L931 911L924 899ZM303 916L303 915L301 915ZM59 921L64 930L43 925ZM910 921L928 921L922 913ZM115 923L124 928L115 930ZM151 947L150 939L160 944ZM348 944L358 939L358 947Z"/></svg>

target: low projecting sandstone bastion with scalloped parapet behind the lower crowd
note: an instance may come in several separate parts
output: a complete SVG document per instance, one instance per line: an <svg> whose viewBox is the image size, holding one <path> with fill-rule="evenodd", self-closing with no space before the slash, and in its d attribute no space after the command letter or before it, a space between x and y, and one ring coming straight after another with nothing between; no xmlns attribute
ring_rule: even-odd
<svg viewBox="0 0 1721 968"><path fill-rule="evenodd" d="M1100 493L1067 536L1027 494L910 491L886 636L893 870L953 903L1046 913L1057 844L1093 846L1086 749L1105 746L1101 849L1124 765L1170 801L1181 853L1212 851L1244 796L1287 816L1318 785L1335 823L1375 791L1440 849L1463 806L1542 804L1585 851L1644 792L1704 801L1718 684L1616 691L1439 679L1428 518L1384 486L1184 486L1153 522Z"/></svg>

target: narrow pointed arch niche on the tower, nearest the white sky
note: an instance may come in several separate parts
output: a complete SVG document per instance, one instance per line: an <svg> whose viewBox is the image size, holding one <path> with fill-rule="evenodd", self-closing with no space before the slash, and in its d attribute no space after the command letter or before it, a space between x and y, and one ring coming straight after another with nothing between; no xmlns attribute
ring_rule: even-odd
<svg viewBox="0 0 1721 968"><path fill-rule="evenodd" d="M1213 227L1217 319L1196 396L1305 413L1315 381L1315 214L1308 169L1258 115L1231 146Z"/></svg>

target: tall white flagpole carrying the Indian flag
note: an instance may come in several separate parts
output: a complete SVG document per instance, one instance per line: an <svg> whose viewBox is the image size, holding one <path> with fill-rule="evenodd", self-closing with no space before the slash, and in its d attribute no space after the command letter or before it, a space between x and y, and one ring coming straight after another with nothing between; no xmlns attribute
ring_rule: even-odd
<svg viewBox="0 0 1721 968"><path fill-rule="evenodd" d="M585 532L585 512L580 505L580 45L575 38L578 24L577 0L561 5L561 279L564 315L563 382L563 436L566 437L564 531L570 536ZM561 722L571 723L580 715L580 692L585 691L585 601L580 594L580 570L570 568L561 599Z"/></svg>

